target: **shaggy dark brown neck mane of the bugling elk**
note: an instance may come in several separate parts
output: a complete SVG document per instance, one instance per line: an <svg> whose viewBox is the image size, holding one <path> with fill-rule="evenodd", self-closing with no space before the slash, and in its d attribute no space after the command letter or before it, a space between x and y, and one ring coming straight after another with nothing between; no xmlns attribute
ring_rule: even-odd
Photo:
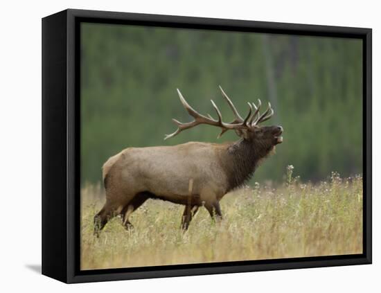
<svg viewBox="0 0 381 293"><path fill-rule="evenodd" d="M228 190L245 184L253 175L260 161L274 149L272 145L263 145L258 141L240 139L227 148L225 154L225 172L228 177Z"/></svg>

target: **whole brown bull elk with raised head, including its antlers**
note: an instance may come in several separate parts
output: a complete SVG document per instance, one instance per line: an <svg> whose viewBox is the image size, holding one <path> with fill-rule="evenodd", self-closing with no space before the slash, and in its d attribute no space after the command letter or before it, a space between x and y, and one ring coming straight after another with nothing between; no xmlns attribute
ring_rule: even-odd
<svg viewBox="0 0 381 293"><path fill-rule="evenodd" d="M274 114L270 104L260 114L260 100L258 105L248 103L249 112L242 118L221 87L220 90L235 116L231 123L222 121L220 109L213 100L211 103L217 119L209 114L199 114L177 89L182 105L194 120L181 123L172 119L177 130L166 135L165 139L202 124L219 127L221 133L218 137L234 130L240 139L221 144L188 142L173 146L126 148L110 157L103 165L106 203L94 217L97 236L115 215L121 215L126 229L132 227L129 221L131 213L150 198L185 205L181 220L183 229L188 229L200 206L204 206L212 218L222 218L219 204L222 197L242 186L254 174L258 163L283 141L283 128L260 126ZM193 182L191 195L188 190L190 179Z"/></svg>

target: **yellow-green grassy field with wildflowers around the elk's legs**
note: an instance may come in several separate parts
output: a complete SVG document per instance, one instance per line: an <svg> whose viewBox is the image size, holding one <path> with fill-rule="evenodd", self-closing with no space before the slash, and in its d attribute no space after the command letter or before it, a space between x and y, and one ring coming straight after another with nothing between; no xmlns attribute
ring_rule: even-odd
<svg viewBox="0 0 381 293"><path fill-rule="evenodd" d="M360 176L302 184L288 168L280 186L256 183L225 195L222 222L201 208L186 233L184 206L149 199L130 217L134 229L115 217L95 238L93 217L104 201L100 184L82 188L82 269L362 253Z"/></svg>

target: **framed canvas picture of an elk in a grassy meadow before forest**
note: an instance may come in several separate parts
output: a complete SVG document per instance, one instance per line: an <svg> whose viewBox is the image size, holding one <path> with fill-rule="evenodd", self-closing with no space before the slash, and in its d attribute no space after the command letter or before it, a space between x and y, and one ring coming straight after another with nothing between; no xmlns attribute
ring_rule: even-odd
<svg viewBox="0 0 381 293"><path fill-rule="evenodd" d="M362 40L80 24L80 269L362 254Z"/></svg>

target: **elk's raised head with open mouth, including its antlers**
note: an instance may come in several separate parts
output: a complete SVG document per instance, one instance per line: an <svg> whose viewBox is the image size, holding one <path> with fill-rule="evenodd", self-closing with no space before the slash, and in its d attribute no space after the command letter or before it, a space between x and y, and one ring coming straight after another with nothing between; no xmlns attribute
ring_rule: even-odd
<svg viewBox="0 0 381 293"><path fill-rule="evenodd" d="M222 121L222 115L220 109L215 105L213 100L211 103L215 112L217 113L218 119L213 118L211 115L204 116L186 102L185 98L181 95L179 89L177 89L177 93L179 94L179 98L181 103L184 105L186 111L190 116L194 118L193 121L188 123L181 123L176 119L172 119L173 122L177 124L177 130L172 134L166 134L165 139L169 139L177 134L179 134L182 130L187 130L189 128L195 127L200 124L213 125L221 128L221 132L218 137L222 136L228 130L234 130L238 136L240 136L245 141L250 141L256 145L260 144L265 148L272 148L274 145L278 143L282 143L283 137L281 136L283 133L283 127L274 125L274 126L260 126L259 124L267 121L274 115L274 110L272 109L270 103L263 114L260 114L261 102L258 99L258 105L254 103L247 103L249 105L249 113L242 118L238 113L236 107L231 102L230 98L225 94L222 87L220 87L222 96L227 100L229 107L233 111L234 116L236 117L230 123L224 123Z"/></svg>

